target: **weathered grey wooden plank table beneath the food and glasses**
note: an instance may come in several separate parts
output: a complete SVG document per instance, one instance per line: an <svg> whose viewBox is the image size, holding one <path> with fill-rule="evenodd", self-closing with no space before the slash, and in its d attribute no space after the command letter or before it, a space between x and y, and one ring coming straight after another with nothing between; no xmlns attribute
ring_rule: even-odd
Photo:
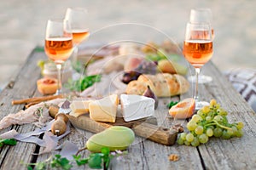
<svg viewBox="0 0 256 170"><path fill-rule="evenodd" d="M13 99L25 99L38 96L37 80L41 77L38 69L38 59L47 59L42 48L35 48L26 59L19 74L11 80L0 94L0 118L24 109L24 105L12 105ZM207 144L198 147L178 145L166 146L154 143L148 139L137 138L136 142L128 149L128 154L122 160L113 159L110 169L256 169L256 115L247 105L247 102L232 87L218 68L209 62L205 65L204 73L213 77L211 83L200 85L201 99L216 99L230 114L230 122L243 122L244 135L242 138L215 139L211 138ZM188 94L176 96L172 99L183 99ZM160 107L165 107L170 99L162 99ZM164 115L163 115L164 114ZM160 126L171 127L173 121L166 113L157 115ZM185 125L186 122L182 122ZM10 129L16 129L19 133L28 133L35 130L32 124L15 125L0 131L4 133ZM93 133L71 128L71 133L61 142L69 140L82 148ZM18 142L15 146L5 145L1 150L0 169L26 169L20 164L23 162L39 162L46 160L52 154L58 154L55 150L44 155L35 155L43 150L37 144ZM88 156L89 151L81 153ZM168 156L177 154L178 161L169 161ZM48 167L50 169L50 167ZM88 166L73 167L84 169Z"/></svg>

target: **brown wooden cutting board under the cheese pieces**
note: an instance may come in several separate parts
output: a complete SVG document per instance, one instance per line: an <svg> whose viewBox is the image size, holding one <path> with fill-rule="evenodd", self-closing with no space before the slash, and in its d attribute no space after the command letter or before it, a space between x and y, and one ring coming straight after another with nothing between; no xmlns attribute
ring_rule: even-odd
<svg viewBox="0 0 256 170"><path fill-rule="evenodd" d="M158 127L155 117L148 117L137 121L125 122L122 117L117 117L116 122L96 122L89 115L78 117L68 115L69 121L74 127L88 130L92 133L100 133L108 127L125 126L130 127L137 136L152 140L159 144L172 145L177 139L177 131L166 127Z"/></svg>

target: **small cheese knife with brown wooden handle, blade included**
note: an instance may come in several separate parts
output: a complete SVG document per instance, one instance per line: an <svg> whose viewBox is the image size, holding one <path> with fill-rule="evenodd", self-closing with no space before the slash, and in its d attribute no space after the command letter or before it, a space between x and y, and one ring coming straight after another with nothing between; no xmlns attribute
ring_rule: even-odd
<svg viewBox="0 0 256 170"><path fill-rule="evenodd" d="M67 114L72 111L69 106L70 102L68 100L65 100L65 102L59 108L58 113L55 115L55 122L53 122L53 124L51 125L51 132L57 136L60 136L67 130Z"/></svg>

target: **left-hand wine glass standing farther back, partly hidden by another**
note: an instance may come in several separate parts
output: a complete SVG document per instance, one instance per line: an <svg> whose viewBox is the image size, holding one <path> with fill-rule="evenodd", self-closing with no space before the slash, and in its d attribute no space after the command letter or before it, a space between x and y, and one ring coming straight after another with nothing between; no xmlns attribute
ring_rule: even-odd
<svg viewBox="0 0 256 170"><path fill-rule="evenodd" d="M88 29L88 13L85 8L67 8L65 20L68 20L73 33L73 59L77 60L79 44L90 36Z"/></svg>

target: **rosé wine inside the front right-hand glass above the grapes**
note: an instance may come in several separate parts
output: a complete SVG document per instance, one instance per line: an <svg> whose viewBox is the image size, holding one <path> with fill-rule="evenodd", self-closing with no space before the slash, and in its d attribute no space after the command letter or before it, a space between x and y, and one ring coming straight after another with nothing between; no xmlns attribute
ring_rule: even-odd
<svg viewBox="0 0 256 170"><path fill-rule="evenodd" d="M195 68L201 68L212 58L212 41L189 40L183 43L183 55Z"/></svg>

